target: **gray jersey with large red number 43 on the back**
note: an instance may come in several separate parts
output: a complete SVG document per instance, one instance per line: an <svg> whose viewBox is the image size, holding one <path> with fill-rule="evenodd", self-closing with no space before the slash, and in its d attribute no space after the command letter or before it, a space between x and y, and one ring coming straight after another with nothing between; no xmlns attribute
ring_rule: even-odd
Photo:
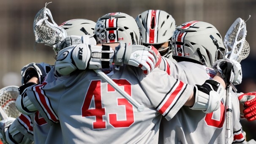
<svg viewBox="0 0 256 144"><path fill-rule="evenodd" d="M47 123L60 124L63 141L71 143L153 143L163 117L170 120L193 92L193 86L155 68L122 66L109 76L139 104L138 112L94 71L31 86L27 95Z"/></svg>

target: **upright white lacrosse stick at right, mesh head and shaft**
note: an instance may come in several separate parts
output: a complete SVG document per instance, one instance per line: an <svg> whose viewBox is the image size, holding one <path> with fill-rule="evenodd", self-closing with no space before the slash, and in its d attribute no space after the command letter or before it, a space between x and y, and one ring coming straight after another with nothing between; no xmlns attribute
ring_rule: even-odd
<svg viewBox="0 0 256 144"><path fill-rule="evenodd" d="M249 16L250 18L251 16ZM248 19L249 19L248 18ZM245 40L246 37L246 24L245 21L241 18L237 18L236 21L230 26L227 31L223 43L227 49L225 58L229 60L236 60L237 62L241 62L247 58L250 53L250 47L248 42ZM231 144L231 117L232 117L232 99L231 92L232 87L234 91L237 90L235 87L230 84L227 86L227 94L226 94L226 144Z"/></svg>

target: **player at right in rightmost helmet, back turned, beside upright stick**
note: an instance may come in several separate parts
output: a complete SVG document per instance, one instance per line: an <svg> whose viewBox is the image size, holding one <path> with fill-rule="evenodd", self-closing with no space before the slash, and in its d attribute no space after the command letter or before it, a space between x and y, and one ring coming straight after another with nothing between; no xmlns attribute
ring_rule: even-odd
<svg viewBox="0 0 256 144"><path fill-rule="evenodd" d="M223 59L225 47L221 34L212 24L202 21L190 21L178 26L172 37L173 58L182 64L183 71L170 66L171 75L188 84L203 84L205 80L216 75L216 60ZM232 62L240 68L239 63ZM174 63L175 65L175 63ZM215 69L213 69L215 68ZM218 69L218 68L217 68ZM239 71L239 69L237 69ZM191 76L193 73L193 76ZM242 81L242 77L233 79L233 83ZM232 82L231 81L231 82ZM228 81L226 81L228 82ZM182 107L171 120L162 120L160 143L165 144L224 144L226 140L225 121L226 95L221 99L221 107L212 113L192 110L193 107ZM232 95L232 137L231 142L246 143L239 122L239 102L235 94Z"/></svg>

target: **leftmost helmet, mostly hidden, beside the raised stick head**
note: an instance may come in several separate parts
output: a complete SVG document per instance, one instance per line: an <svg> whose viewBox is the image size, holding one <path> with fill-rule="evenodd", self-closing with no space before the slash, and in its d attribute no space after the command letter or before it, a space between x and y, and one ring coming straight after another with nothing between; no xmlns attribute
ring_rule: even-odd
<svg viewBox="0 0 256 144"><path fill-rule="evenodd" d="M83 36L84 34L93 35L95 22L88 19L71 19L60 25L67 32L68 36Z"/></svg>

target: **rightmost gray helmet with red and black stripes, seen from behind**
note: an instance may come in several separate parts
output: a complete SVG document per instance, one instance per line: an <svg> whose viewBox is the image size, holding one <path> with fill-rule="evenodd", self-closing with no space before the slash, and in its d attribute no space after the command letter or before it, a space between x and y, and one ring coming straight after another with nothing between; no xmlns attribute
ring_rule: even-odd
<svg viewBox="0 0 256 144"><path fill-rule="evenodd" d="M226 48L219 31L203 21L190 21L178 26L172 37L173 58L207 67L223 59Z"/></svg>

